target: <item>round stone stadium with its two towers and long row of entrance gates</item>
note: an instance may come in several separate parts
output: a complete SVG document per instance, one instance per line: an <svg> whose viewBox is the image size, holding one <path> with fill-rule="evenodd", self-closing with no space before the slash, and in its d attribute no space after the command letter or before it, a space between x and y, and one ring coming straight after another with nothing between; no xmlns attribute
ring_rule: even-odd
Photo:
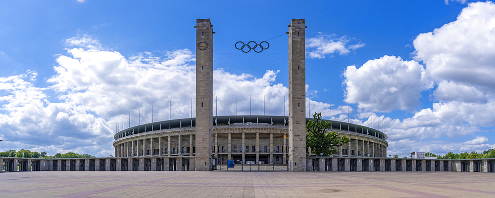
<svg viewBox="0 0 495 198"><path fill-rule="evenodd" d="M112 158L0 158L7 171L476 171L493 172L495 159L387 158L387 135L334 121L351 141L332 157L306 156L305 21L289 25L289 116L213 117L213 25L196 28L196 118L130 127L114 135ZM233 164L229 164L233 163ZM229 169L230 168L230 169Z"/></svg>

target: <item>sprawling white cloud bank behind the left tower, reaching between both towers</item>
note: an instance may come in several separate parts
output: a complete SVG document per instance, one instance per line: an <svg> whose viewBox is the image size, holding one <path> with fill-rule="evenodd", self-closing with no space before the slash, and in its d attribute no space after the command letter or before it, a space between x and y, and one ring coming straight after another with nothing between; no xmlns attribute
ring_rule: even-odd
<svg viewBox="0 0 495 198"><path fill-rule="evenodd" d="M191 116L196 89L196 59L191 50L124 57L87 35L67 39L66 45L67 53L55 59L56 74L47 80L49 87L33 84L35 71L0 78L4 148L107 156L113 153L116 123L121 130L137 125L138 117L141 124L151 122L152 105L153 121L169 119L169 111L171 119ZM263 97L265 115L283 115L288 88L274 83L278 73L268 70L256 78L215 70L214 115L235 115L236 109L239 115L263 115ZM323 111L329 107L319 104ZM333 115L339 112L343 110L334 110Z"/></svg>

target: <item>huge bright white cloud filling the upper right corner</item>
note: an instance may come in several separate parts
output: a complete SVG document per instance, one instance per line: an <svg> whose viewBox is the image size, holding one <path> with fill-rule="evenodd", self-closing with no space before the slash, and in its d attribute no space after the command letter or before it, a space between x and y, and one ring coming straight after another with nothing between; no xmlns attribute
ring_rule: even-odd
<svg viewBox="0 0 495 198"><path fill-rule="evenodd" d="M418 35L414 59L436 80L495 89L495 4L469 3L453 22Z"/></svg>

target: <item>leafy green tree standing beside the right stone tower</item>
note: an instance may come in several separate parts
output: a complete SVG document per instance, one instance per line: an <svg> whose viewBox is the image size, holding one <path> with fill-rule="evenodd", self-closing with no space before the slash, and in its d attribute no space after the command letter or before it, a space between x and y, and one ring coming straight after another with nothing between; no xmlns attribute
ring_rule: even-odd
<svg viewBox="0 0 495 198"><path fill-rule="evenodd" d="M306 148L311 148L311 153L316 156L330 156L338 153L335 147L347 144L350 140L347 136L339 138L336 131L331 131L332 123L321 120L321 113L314 113L313 119L306 123ZM330 130L327 132L327 130ZM306 155L310 155L306 153Z"/></svg>

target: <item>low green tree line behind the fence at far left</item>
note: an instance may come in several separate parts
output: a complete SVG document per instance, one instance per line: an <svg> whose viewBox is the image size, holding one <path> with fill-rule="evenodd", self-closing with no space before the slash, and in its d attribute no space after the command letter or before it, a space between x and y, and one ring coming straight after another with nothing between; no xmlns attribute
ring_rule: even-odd
<svg viewBox="0 0 495 198"><path fill-rule="evenodd" d="M20 151L9 150L5 152L0 152L0 157L9 157L9 158L41 158L41 159L58 159L58 158L96 158L89 154L77 154L68 152L65 154L57 153L54 156L47 155L47 152L31 152L27 149L21 149Z"/></svg>

